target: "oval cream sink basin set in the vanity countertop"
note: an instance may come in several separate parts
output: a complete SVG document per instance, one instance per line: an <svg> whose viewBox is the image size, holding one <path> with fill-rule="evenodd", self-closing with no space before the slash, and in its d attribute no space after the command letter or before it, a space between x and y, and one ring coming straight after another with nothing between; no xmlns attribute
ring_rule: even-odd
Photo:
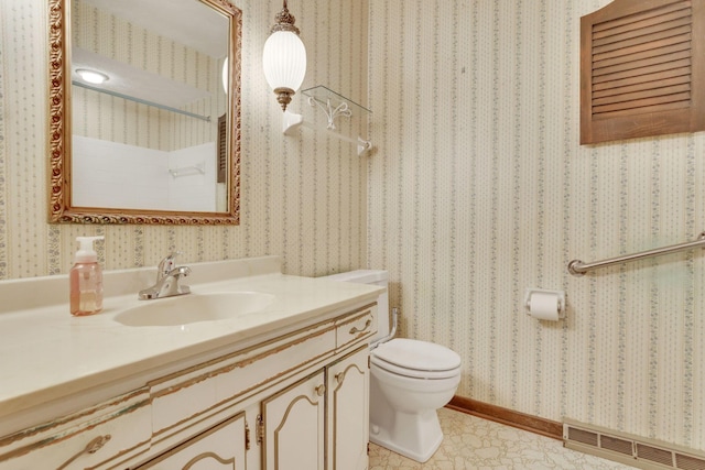
<svg viewBox="0 0 705 470"><path fill-rule="evenodd" d="M221 292L187 294L144 300L116 316L116 321L129 327L176 326L198 321L237 318L264 309L274 296L259 292Z"/></svg>

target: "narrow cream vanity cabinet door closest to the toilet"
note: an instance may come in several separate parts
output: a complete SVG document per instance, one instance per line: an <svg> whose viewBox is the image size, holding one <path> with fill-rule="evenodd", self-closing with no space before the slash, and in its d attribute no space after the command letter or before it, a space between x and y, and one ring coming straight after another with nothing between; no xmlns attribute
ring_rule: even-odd
<svg viewBox="0 0 705 470"><path fill-rule="evenodd" d="M329 466L332 470L365 470L369 441L369 348L328 368Z"/></svg>

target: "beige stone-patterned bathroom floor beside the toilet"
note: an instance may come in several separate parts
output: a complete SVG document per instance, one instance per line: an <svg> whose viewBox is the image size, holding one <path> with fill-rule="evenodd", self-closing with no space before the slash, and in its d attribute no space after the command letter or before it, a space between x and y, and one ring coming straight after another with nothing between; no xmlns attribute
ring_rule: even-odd
<svg viewBox="0 0 705 470"><path fill-rule="evenodd" d="M425 463L370 444L370 470L632 469L563 447L563 442L448 408L438 411L445 438Z"/></svg>

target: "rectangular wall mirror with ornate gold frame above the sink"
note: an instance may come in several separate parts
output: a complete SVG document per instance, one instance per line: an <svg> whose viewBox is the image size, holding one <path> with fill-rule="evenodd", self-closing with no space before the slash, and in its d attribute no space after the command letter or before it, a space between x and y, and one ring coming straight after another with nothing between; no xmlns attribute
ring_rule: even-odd
<svg viewBox="0 0 705 470"><path fill-rule="evenodd" d="M239 223L241 11L48 1L50 221Z"/></svg>

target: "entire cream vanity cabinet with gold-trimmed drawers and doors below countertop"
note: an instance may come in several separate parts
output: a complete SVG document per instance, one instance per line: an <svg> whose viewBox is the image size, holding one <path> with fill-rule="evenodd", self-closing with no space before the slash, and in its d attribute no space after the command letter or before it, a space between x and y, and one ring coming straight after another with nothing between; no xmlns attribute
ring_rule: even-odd
<svg viewBox="0 0 705 470"><path fill-rule="evenodd" d="M377 305L360 298L0 437L0 470L366 469Z"/></svg>

